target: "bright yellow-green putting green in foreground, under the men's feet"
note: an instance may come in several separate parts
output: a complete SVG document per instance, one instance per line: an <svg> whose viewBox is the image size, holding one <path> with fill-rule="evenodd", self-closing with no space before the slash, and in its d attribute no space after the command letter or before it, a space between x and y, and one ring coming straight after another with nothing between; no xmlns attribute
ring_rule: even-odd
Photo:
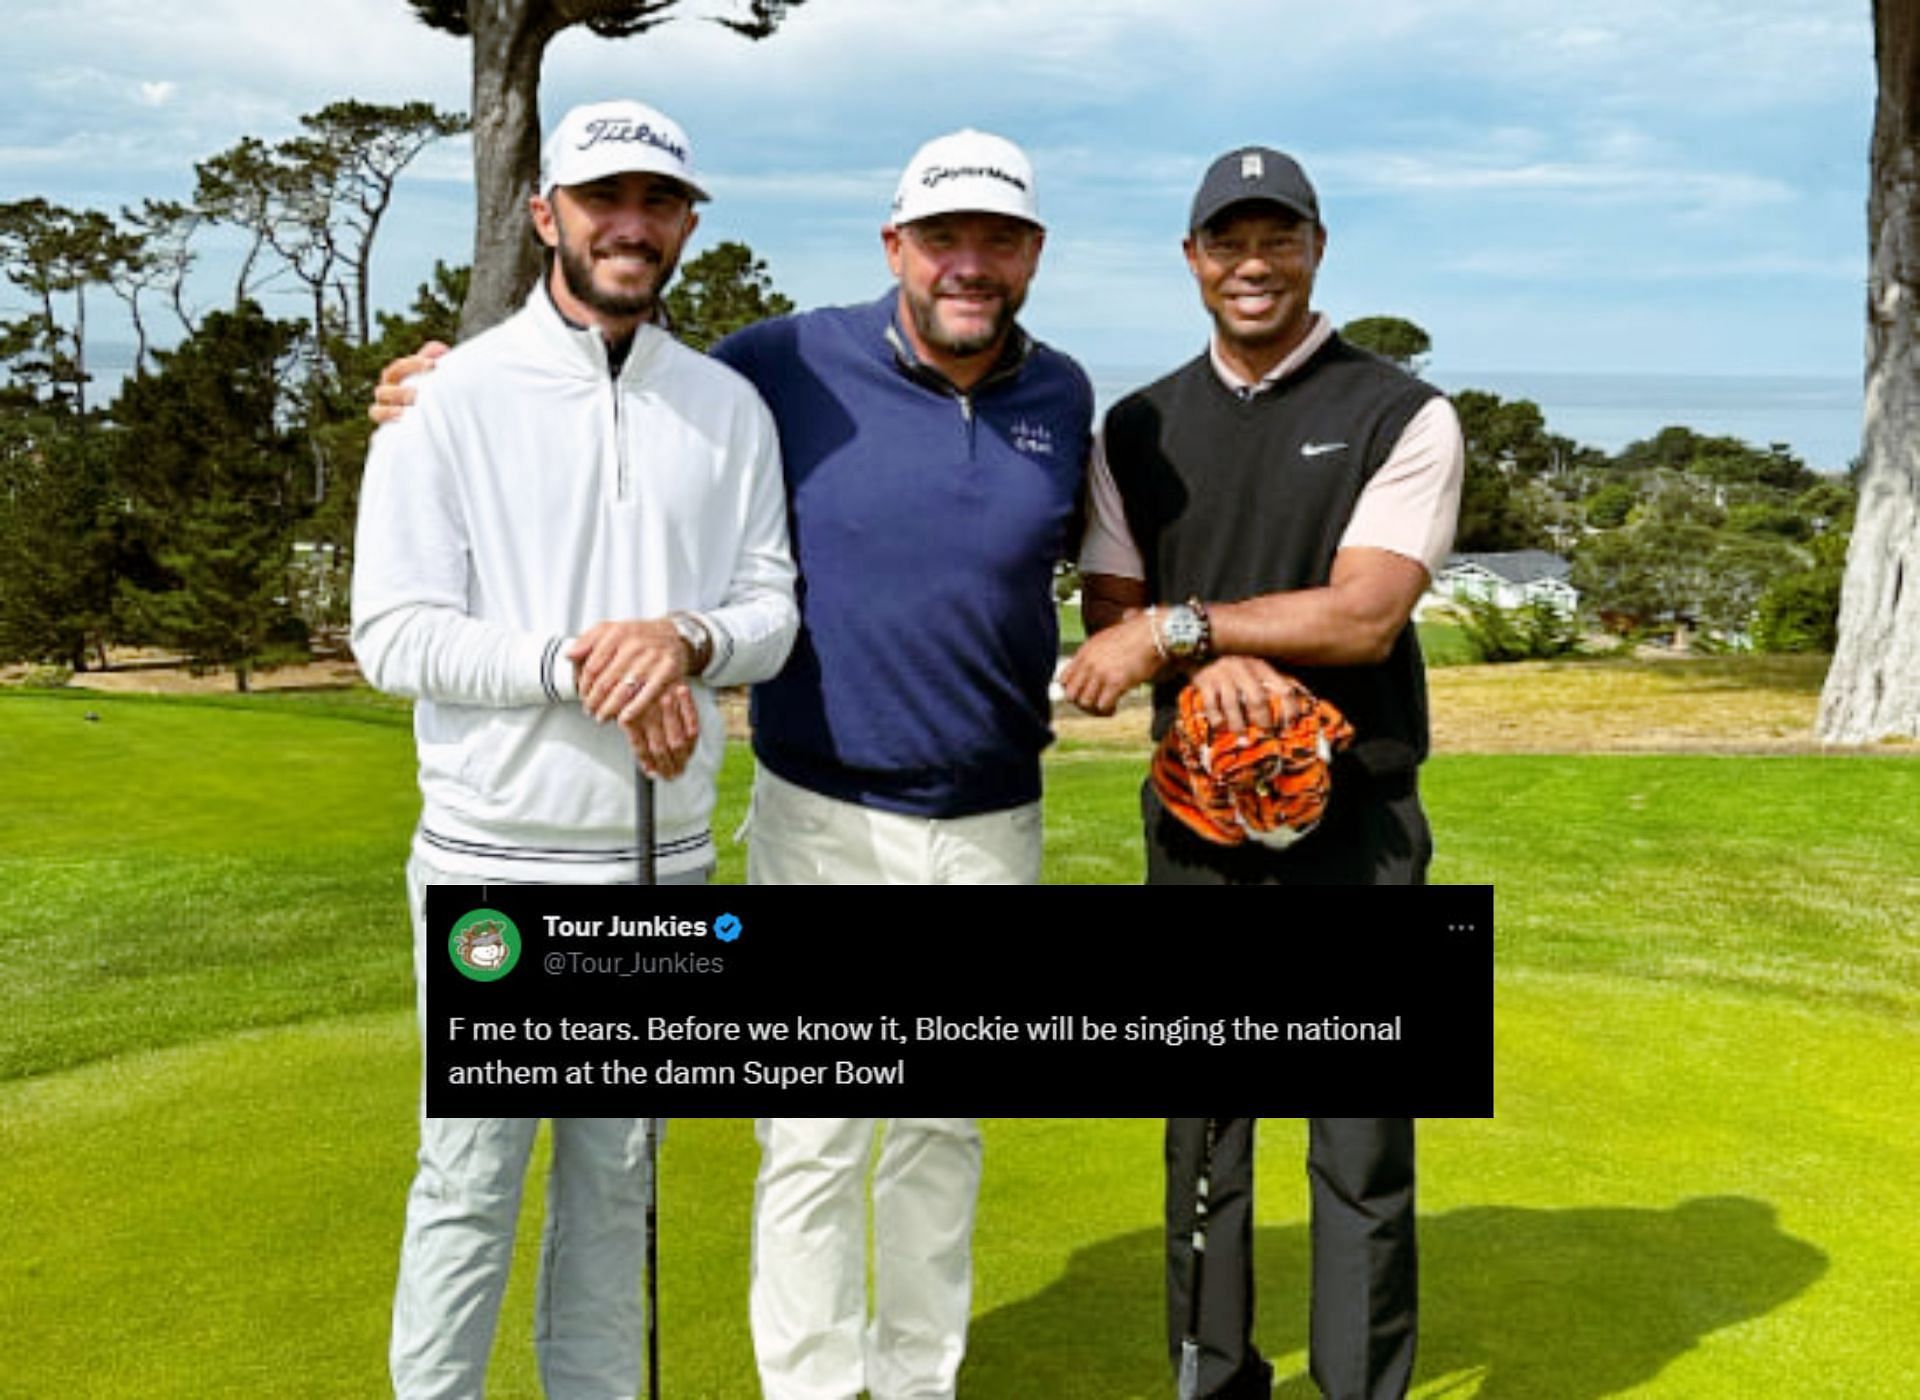
<svg viewBox="0 0 1920 1400"><path fill-rule="evenodd" d="M1674 983L1500 979L1492 1122L1421 1125L1419 1396L1903 1396L1920 1371L1920 1037ZM384 1385L417 1050L380 1012L0 1085L0 1394ZM964 1392L1169 1392L1158 1123L996 1120ZM1296 1122L1263 1129L1261 1344L1306 1340ZM664 1152L666 1390L751 1396L753 1137ZM538 1175L532 1177L538 1181ZM536 1396L528 1193L493 1396Z"/></svg>

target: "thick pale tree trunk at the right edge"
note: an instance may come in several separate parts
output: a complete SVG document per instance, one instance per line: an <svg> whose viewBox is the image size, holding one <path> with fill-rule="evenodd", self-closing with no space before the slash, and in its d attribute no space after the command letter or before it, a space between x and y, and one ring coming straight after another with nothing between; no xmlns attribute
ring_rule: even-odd
<svg viewBox="0 0 1920 1400"><path fill-rule="evenodd" d="M1920 736L1920 6L1874 0L1866 428L1820 737Z"/></svg>

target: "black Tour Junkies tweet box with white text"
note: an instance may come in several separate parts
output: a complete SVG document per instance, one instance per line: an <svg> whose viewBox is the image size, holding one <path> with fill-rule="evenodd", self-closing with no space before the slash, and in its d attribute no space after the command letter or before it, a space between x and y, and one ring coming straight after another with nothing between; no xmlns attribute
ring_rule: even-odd
<svg viewBox="0 0 1920 1400"><path fill-rule="evenodd" d="M1494 1112L1494 891L440 885L434 1116Z"/></svg>

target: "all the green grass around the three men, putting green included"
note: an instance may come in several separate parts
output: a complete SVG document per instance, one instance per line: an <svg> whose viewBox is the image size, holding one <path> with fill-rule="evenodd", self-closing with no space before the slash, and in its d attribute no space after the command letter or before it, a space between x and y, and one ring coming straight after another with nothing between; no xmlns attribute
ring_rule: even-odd
<svg viewBox="0 0 1920 1400"><path fill-rule="evenodd" d="M735 747L722 880L749 768ZM419 1091L405 711L0 693L0 1396L380 1394ZM1139 778L1050 760L1050 880L1139 880ZM1498 1118L1419 1129L1417 1396L1912 1394L1916 784L1860 757L1428 766L1434 876L1496 885ZM1300 1123L1261 1127L1288 1400L1302 1158ZM993 1120L987 1162L962 1394L1169 1396L1158 1122ZM753 1164L745 1122L670 1129L674 1400L755 1394ZM538 1394L530 1181L493 1396Z"/></svg>

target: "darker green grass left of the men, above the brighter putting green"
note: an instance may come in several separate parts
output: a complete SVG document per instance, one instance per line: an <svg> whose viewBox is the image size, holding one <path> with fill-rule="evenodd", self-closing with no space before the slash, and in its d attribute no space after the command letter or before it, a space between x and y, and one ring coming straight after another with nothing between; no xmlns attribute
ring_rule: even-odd
<svg viewBox="0 0 1920 1400"><path fill-rule="evenodd" d="M253 699L0 691L0 1075L411 1004L407 711Z"/></svg>

